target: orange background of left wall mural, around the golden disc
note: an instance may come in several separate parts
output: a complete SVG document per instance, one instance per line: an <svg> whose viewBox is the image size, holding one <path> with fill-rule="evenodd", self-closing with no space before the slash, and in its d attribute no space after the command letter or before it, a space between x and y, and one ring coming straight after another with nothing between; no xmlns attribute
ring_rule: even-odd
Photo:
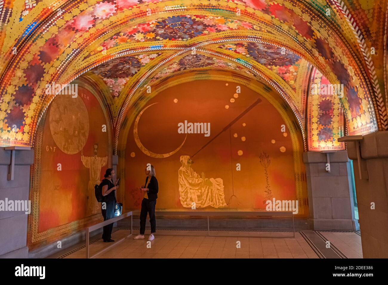
<svg viewBox="0 0 388 285"><path fill-rule="evenodd" d="M106 119L101 106L94 95L84 88L78 88L78 95L87 109L89 124L83 155L93 156L94 144L98 143L97 156L106 157L109 144L107 132L102 132L102 125L106 125ZM53 102L55 100L57 98ZM77 101L73 102L75 104L73 108L76 109ZM90 216L86 212L89 169L81 162L81 152L66 154L55 143L50 130L50 112L52 112L52 104L45 120L42 157L38 162L42 167L38 178L40 179L38 231L45 231ZM75 136L75 140L80 140L80 136ZM57 170L58 163L62 164L62 171ZM100 177L103 176L106 168L108 164L101 168ZM95 199L94 196L90 198Z"/></svg>

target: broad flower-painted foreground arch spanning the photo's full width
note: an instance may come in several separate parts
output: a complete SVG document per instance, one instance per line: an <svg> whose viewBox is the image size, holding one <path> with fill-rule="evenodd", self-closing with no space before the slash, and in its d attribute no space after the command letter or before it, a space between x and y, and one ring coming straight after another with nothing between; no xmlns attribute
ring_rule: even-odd
<svg viewBox="0 0 388 285"><path fill-rule="evenodd" d="M365 134L378 130L378 128L381 130L386 128L384 120L381 121L379 117L375 118L374 110L379 110L384 106L378 105L379 103L376 103L375 98L370 95L373 93L372 88L363 66L350 44L352 40L341 35L338 28L335 28L332 23L305 3L282 1L281 3L263 3L263 7L256 5L249 7L243 2L210 0L204 1L202 5L197 5L197 1L187 1L182 9L185 10L185 15L200 16L195 18L195 21L199 21L201 17L204 19L209 16L222 18L226 13L226 18L231 19L227 21L229 24L227 31L217 30L216 32L208 32L207 35L201 33L199 36L198 33L193 32L195 37L193 36L191 40L179 42L168 39L136 40L133 33L139 33L137 31L132 33L133 29L130 29L127 43L111 47L108 50L98 50L98 48L102 48L102 43L109 40L109 37L116 33L124 33L124 28L131 28L132 25L140 26L142 21L152 21L155 18L158 20L161 15L164 20L161 19L160 25L165 23L163 21L166 21L167 17L170 17L169 19L178 19L177 17L182 19L180 16L182 11L171 8L172 5L182 5L182 3L180 1L164 1L133 7L135 3L131 2L133 5L129 5L128 8L132 7L132 9L124 9L122 4L116 3L111 10L105 9L105 14L93 17L91 13L95 9L99 10L103 2L95 3L97 1L90 1L89 4L83 3L81 9L72 6L70 10L65 9L60 16L53 16L50 24L44 28L35 29L31 40L21 48L17 57L13 59L2 78L0 89L3 103L0 119L3 120L3 123L7 120L7 124L3 125L2 130L3 143L31 145L36 123L51 99L43 92L47 82L68 83L88 69L123 52L146 48L158 49L160 46L163 48L191 48L201 41L228 39L233 38L233 35L244 34L247 37L256 36L260 40L303 55L334 84L341 81L347 85L350 82L346 97L355 98L356 103L359 102L355 107L353 106L356 109L355 117L348 116L348 120L352 123L350 124L350 133ZM168 8L166 9L166 7ZM241 15L238 17L237 8L241 10ZM151 15L147 14L147 9L151 9ZM74 17L74 15L76 16ZM79 25L82 17L86 16L92 17L89 23L90 27ZM130 23L129 26L127 23ZM248 28L244 27L242 23ZM235 25L239 27L236 28ZM208 26L212 28L211 25ZM71 31L69 30L68 34L61 33L64 29L69 28ZM58 41L59 37L60 41ZM50 54L45 50L49 47L54 48ZM69 64L72 62L76 63L76 67L69 68ZM18 99L20 97L25 97L23 102ZM23 103L24 105L20 106ZM348 107L345 99L344 106ZM379 112L376 113L379 114ZM360 118L362 114L365 114L365 121ZM9 127L9 124L12 125L14 122L21 123L16 131L12 131Z"/></svg>

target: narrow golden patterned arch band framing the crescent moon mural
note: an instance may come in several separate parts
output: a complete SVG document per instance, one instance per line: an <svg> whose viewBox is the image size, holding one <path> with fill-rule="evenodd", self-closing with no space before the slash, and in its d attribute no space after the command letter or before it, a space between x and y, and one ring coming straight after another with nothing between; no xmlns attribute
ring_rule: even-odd
<svg viewBox="0 0 388 285"><path fill-rule="evenodd" d="M229 83L237 83L239 85L244 85L249 89L259 93L265 99L267 99L270 104L272 104L275 109L281 114L282 119L286 125L287 130L290 133L292 145L293 145L293 157L294 157L294 178L296 182L296 197L299 200L300 205L300 215L305 216L308 214L308 201L307 201L307 185L306 185L306 174L304 165L302 162L302 152L303 152L303 137L298 124L298 121L285 102L279 94L275 92L273 88L266 85L265 83L259 83L257 80L249 78L248 76L236 76L230 71L186 71L180 74L174 74L171 76L166 76L163 79L158 80L153 84L153 89L151 94L147 94L147 88L142 88L137 92L137 94L133 95L136 98L135 103L130 108L130 111L127 113L127 116L123 120L123 125L121 126L121 132L118 140L118 151L117 154L119 156L119 165L118 165L118 173L120 177L125 177L125 157L126 157L126 143L128 141L129 136L133 136L133 133L130 133L130 128L139 114L139 112L147 105L147 102L154 97L158 96L158 93L163 92L167 88L172 86L177 86L182 83L193 82L196 80L206 80L212 79L217 81L229 82ZM162 99L162 98L161 98ZM280 128L281 126L279 126ZM142 167L142 166L139 166ZM119 190L119 197L121 201L125 201L126 193L124 191L128 190L125 186L125 179L121 184L121 189ZM125 207L125 205L124 205Z"/></svg>

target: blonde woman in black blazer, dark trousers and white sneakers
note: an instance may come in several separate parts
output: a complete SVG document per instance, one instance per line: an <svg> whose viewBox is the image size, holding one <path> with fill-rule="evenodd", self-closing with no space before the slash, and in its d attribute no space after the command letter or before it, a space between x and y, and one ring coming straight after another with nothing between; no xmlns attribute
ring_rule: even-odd
<svg viewBox="0 0 388 285"><path fill-rule="evenodd" d="M154 233L156 232L155 206L158 198L159 186L158 180L155 177L155 168L153 165L145 168L145 184L140 188L143 193L142 207L140 210L140 235L133 237L135 240L144 239L145 220L147 213L149 214L149 222L151 223L151 235L148 240L154 240Z"/></svg>

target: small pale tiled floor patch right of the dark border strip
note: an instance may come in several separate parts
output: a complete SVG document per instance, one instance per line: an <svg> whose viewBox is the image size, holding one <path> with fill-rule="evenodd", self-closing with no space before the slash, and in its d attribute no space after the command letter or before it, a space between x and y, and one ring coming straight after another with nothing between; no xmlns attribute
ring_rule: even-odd
<svg viewBox="0 0 388 285"><path fill-rule="evenodd" d="M357 233L320 231L336 248L348 258L362 258L361 237Z"/></svg>

